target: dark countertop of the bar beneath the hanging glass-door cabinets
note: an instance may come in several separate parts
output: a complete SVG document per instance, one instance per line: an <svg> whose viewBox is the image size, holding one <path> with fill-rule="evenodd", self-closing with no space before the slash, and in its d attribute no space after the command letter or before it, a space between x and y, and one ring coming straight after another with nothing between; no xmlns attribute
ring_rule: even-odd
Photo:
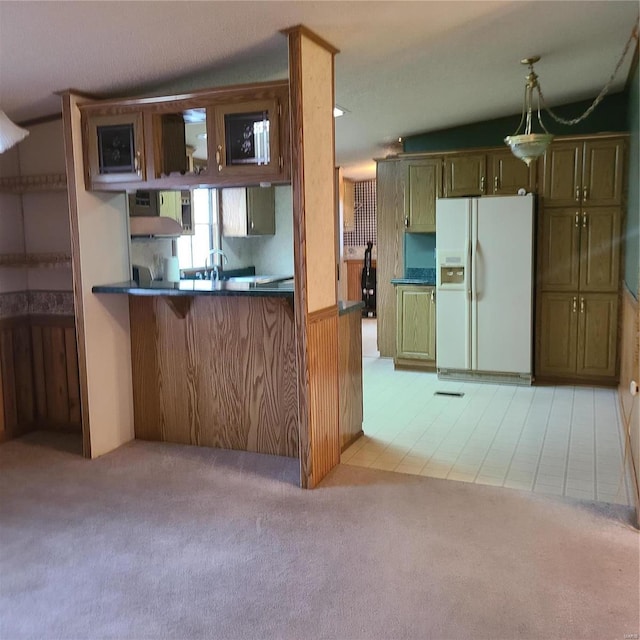
<svg viewBox="0 0 640 640"><path fill-rule="evenodd" d="M252 284L220 280L153 281L140 286L135 280L101 284L92 287L93 293L125 293L132 296L262 296L293 299L293 280Z"/></svg>

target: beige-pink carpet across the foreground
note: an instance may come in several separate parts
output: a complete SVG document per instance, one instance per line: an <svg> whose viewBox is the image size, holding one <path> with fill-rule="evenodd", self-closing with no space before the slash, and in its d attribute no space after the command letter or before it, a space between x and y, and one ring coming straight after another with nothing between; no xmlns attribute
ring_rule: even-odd
<svg viewBox="0 0 640 640"><path fill-rule="evenodd" d="M640 631L627 507L348 466L302 491L290 459L76 446L0 446L2 640Z"/></svg>

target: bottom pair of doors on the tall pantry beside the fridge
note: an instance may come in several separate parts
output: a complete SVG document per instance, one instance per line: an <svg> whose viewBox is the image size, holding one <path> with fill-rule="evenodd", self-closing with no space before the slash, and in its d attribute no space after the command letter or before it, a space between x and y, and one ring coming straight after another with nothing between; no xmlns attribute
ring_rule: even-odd
<svg viewBox="0 0 640 640"><path fill-rule="evenodd" d="M617 337L617 293L543 293L536 373L615 382Z"/></svg>

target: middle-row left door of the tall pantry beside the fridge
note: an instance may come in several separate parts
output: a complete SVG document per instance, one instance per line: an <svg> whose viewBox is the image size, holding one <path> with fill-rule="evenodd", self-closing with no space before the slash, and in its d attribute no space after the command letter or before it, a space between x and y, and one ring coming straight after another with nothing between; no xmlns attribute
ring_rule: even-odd
<svg viewBox="0 0 640 640"><path fill-rule="evenodd" d="M572 291L580 281L580 230L577 208L547 209L539 237L539 273L546 290Z"/></svg>

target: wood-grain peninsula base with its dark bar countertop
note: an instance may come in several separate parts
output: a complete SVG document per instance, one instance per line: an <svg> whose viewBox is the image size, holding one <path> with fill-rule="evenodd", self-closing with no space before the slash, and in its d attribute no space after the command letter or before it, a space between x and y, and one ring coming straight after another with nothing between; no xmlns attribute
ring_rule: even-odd
<svg viewBox="0 0 640 640"><path fill-rule="evenodd" d="M131 281L93 293L129 296L136 438L299 456L292 280ZM345 317L361 307L339 305Z"/></svg>

